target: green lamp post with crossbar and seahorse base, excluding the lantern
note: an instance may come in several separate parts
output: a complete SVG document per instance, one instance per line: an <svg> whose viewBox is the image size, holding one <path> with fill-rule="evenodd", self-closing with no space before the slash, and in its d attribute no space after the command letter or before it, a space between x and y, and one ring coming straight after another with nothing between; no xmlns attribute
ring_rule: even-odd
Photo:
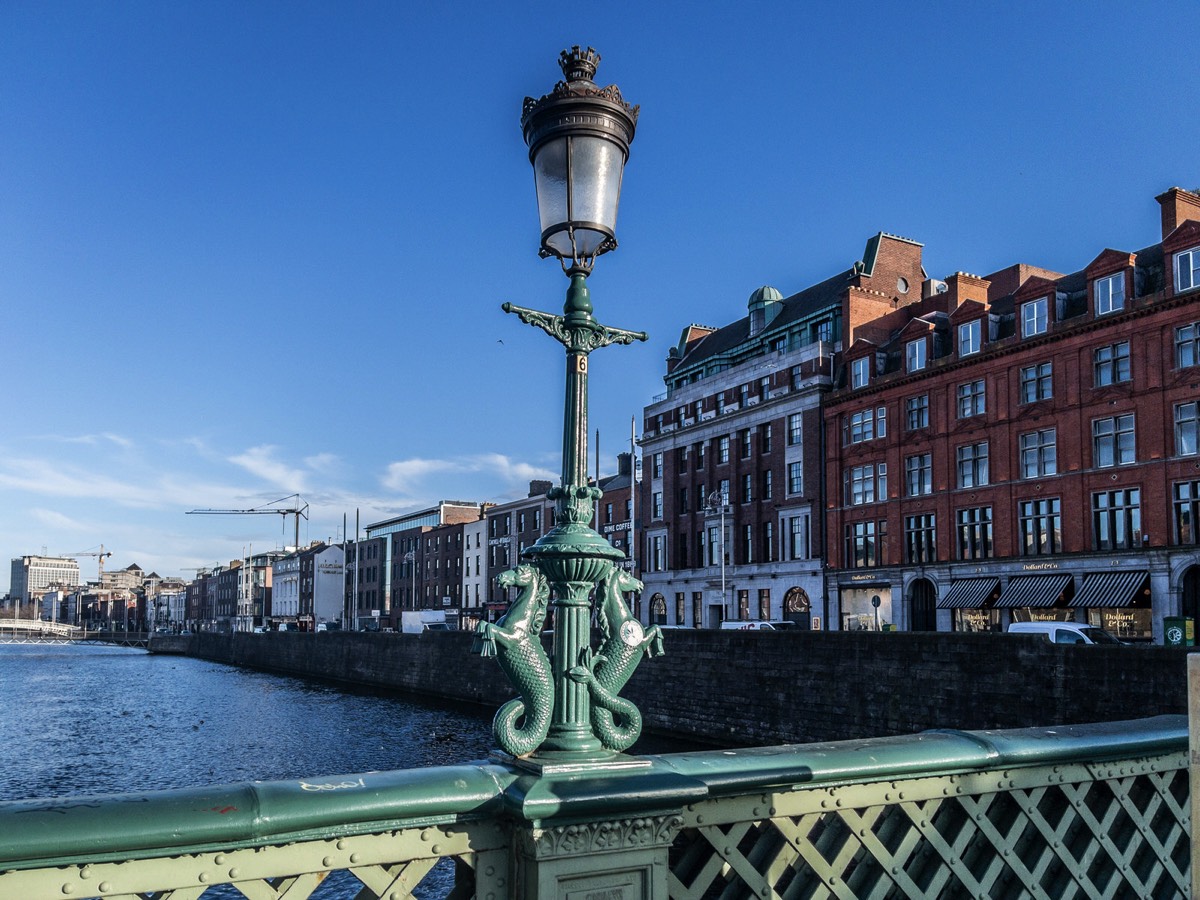
<svg viewBox="0 0 1200 900"><path fill-rule="evenodd" d="M641 582L618 568L625 554L589 524L600 490L588 484L588 355L612 343L644 341L646 334L608 328L593 316L587 275L571 274L563 314L504 304L528 325L540 328L566 349L562 482L548 493L556 502L554 527L524 552L553 589L554 642L548 677L539 634L546 619L530 576L522 566L505 572L509 583L529 586L497 625L481 624L479 649L494 652L521 698L497 714L494 734L512 756L547 761L613 760L641 732L641 714L617 696L643 655L661 652L661 637L647 635L629 613L624 594ZM592 647L592 595L604 594L604 647ZM617 650L620 650L618 654ZM544 726L548 712L548 725Z"/></svg>

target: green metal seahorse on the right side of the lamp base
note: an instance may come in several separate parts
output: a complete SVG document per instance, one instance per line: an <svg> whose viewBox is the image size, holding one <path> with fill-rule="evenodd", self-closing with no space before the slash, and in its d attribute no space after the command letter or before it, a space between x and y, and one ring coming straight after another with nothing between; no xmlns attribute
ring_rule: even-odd
<svg viewBox="0 0 1200 900"><path fill-rule="evenodd" d="M600 582L601 601L596 611L604 641L595 654L584 648L580 664L568 672L586 683L592 696L592 730L607 749L632 746L642 732L642 714L628 700L617 696L632 677L642 654L662 654L662 632L658 625L643 630L629 611L624 594L641 590L642 582L624 569L613 570Z"/></svg>

